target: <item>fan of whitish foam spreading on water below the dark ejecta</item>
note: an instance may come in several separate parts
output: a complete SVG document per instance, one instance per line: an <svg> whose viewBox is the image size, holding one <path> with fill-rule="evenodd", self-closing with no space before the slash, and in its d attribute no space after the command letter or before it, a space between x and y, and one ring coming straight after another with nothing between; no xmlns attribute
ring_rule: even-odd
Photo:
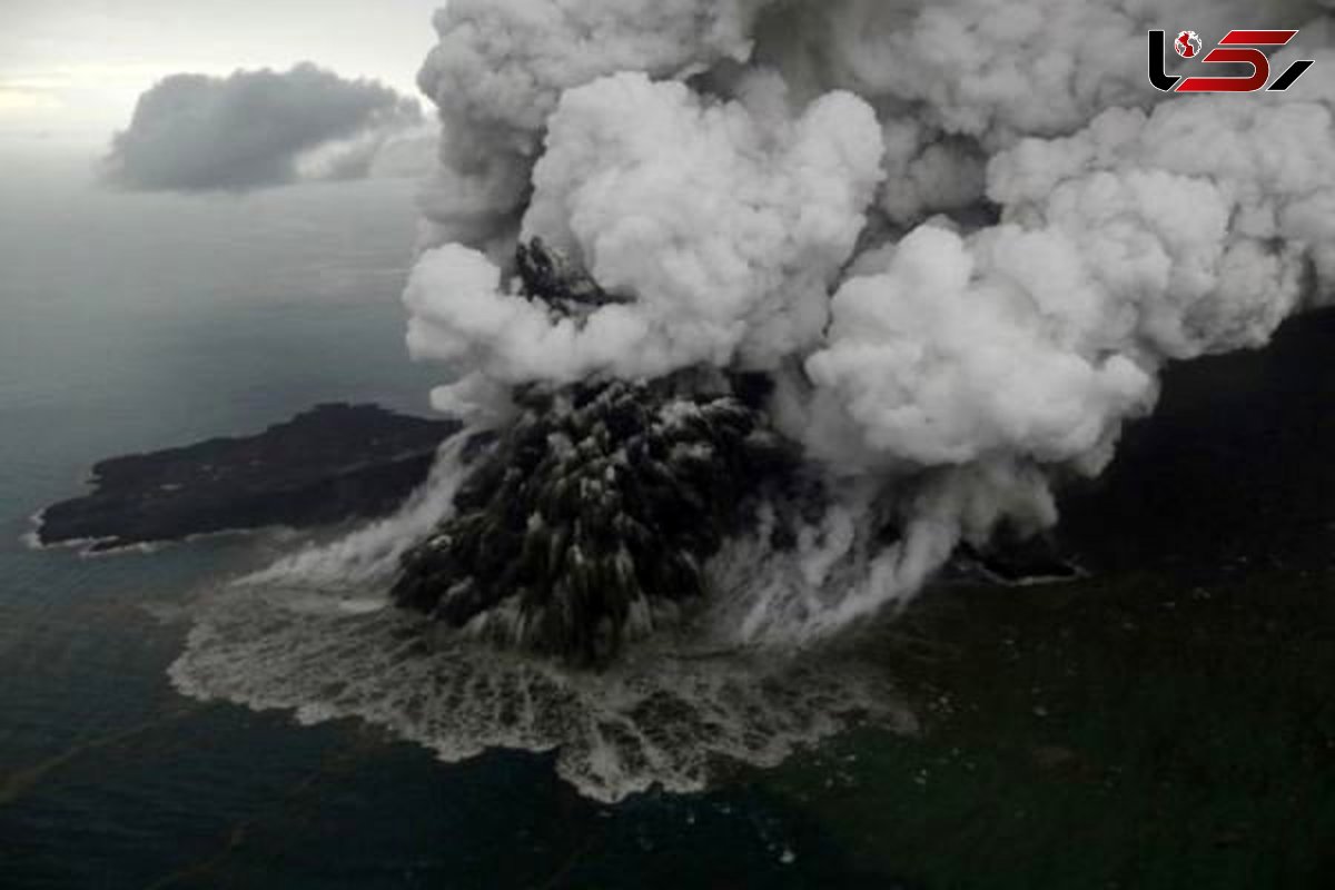
<svg viewBox="0 0 1335 890"><path fill-rule="evenodd" d="M555 751L585 795L706 787L721 759L776 766L862 721L913 731L893 689L814 652L708 650L649 640L613 669L570 671L338 595L247 583L202 604L172 683L203 701L360 718L454 763L490 749Z"/></svg>

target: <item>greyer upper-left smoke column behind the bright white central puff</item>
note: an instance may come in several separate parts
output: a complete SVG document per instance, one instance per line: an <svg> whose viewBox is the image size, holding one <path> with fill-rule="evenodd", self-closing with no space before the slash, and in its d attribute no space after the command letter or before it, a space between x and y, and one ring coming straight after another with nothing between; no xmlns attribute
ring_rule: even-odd
<svg viewBox="0 0 1335 890"><path fill-rule="evenodd" d="M561 95L619 71L684 77L745 59L765 0L453 0L418 84L441 109L427 242L511 236ZM502 248L507 254L507 248Z"/></svg>

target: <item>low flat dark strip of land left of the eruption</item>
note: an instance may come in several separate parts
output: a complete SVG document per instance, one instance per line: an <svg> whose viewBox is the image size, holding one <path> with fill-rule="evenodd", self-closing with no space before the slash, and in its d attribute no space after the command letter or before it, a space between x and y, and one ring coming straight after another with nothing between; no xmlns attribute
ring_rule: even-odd
<svg viewBox="0 0 1335 890"><path fill-rule="evenodd" d="M111 550L382 515L426 479L458 428L370 404L322 404L259 435L103 460L92 494L45 510L37 536Z"/></svg>

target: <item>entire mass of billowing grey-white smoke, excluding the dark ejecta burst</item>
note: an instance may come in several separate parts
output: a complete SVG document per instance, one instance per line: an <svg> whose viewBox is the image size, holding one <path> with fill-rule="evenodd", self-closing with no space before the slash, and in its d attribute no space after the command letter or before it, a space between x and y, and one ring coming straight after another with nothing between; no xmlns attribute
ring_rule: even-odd
<svg viewBox="0 0 1335 890"><path fill-rule="evenodd" d="M837 627L961 542L1052 526L1053 484L1107 466L1164 363L1331 295L1326 15L454 0L421 75L443 132L411 350L449 363L441 408L490 416L523 384L766 375L826 506L784 552L762 530L724 558L754 556L738 626ZM1167 97L1145 31L1188 27L1302 28L1275 68L1316 64L1284 93ZM515 239L617 299L533 299Z"/></svg>

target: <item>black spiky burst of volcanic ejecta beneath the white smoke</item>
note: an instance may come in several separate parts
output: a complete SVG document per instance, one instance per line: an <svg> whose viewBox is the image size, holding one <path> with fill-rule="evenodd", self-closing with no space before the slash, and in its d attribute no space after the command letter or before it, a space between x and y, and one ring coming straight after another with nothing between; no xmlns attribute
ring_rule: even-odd
<svg viewBox="0 0 1335 890"><path fill-rule="evenodd" d="M411 550L396 600L453 627L579 664L606 662L665 607L789 466L744 387L720 375L527 387L522 415Z"/></svg>

